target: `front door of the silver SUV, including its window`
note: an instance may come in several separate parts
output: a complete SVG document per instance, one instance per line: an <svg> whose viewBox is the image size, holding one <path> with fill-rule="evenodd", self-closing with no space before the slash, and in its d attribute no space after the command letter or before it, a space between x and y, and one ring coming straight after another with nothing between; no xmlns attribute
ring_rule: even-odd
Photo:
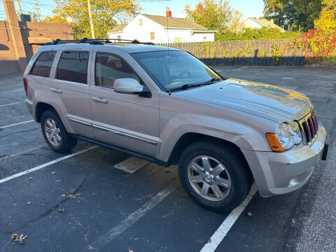
<svg viewBox="0 0 336 252"><path fill-rule="evenodd" d="M95 85L90 87L90 99L95 139L155 157L160 144L158 94L147 98L114 92L118 78L145 84L122 57L106 52L94 56Z"/></svg>

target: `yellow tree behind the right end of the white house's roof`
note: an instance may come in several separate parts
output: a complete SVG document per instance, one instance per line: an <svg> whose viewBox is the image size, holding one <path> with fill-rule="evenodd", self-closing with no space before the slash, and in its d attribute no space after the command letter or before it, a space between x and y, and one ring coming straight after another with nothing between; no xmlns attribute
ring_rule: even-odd
<svg viewBox="0 0 336 252"><path fill-rule="evenodd" d="M232 9L228 1L203 0L197 3L195 10L187 4L185 12L190 20L218 32L227 29L232 18Z"/></svg>

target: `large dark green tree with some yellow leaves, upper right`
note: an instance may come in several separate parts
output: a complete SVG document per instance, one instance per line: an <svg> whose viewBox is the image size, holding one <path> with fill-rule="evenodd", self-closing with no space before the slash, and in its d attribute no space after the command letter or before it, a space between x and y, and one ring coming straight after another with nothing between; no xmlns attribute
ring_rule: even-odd
<svg viewBox="0 0 336 252"><path fill-rule="evenodd" d="M314 20L321 10L321 0L264 0L264 15L280 27L314 28Z"/></svg>

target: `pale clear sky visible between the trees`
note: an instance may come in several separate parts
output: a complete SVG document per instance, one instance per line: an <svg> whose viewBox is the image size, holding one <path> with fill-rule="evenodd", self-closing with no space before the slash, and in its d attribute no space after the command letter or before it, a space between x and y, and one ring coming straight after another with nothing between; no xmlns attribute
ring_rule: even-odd
<svg viewBox="0 0 336 252"><path fill-rule="evenodd" d="M19 0L23 13L34 11L34 0ZM55 2L52 0L37 0L41 18L45 18L47 15L52 15L52 8L55 6ZM169 7L172 10L172 17L174 18L186 18L184 13L184 7L189 3L192 8L195 8L196 4L200 0L138 0L137 3L143 10L141 13L151 15L165 15L166 8ZM264 3L262 0L230 0L232 8L239 10L244 15L244 19L248 17L261 17ZM6 14L3 8L3 3L0 1L0 20L6 18Z"/></svg>

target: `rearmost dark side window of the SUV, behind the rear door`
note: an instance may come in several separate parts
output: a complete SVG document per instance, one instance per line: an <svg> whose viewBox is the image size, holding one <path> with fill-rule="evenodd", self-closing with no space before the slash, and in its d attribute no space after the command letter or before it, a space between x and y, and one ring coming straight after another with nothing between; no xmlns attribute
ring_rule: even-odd
<svg viewBox="0 0 336 252"><path fill-rule="evenodd" d="M55 55L56 52L54 51L42 52L41 55L38 56L33 66L33 69L31 69L30 74L34 76L49 78L52 62L54 61Z"/></svg>

